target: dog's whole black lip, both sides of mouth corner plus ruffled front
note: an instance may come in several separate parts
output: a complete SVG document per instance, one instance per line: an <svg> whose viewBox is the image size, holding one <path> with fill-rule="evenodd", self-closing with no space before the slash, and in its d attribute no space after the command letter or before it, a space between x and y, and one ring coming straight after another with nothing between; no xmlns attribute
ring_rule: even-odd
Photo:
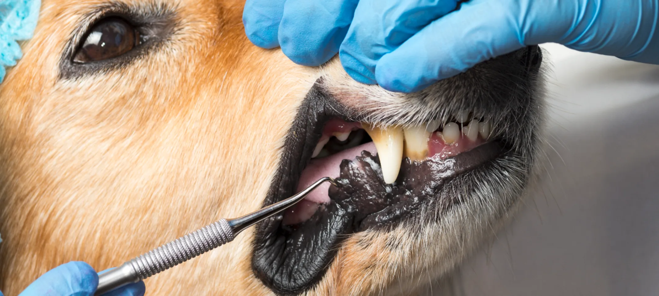
<svg viewBox="0 0 659 296"><path fill-rule="evenodd" d="M266 205L294 193L324 122L332 117L345 118L343 114L348 113L341 113L345 111L343 108L320 87L311 89L285 139L285 149L264 202ZM349 234L393 225L409 212L420 209L446 182L486 161L475 157L476 162L469 162L469 155L484 155L491 159L500 151L500 146L492 143L442 162L429 160L403 164L409 176L403 176L399 185L382 182L378 157L370 153L353 161L343 160L341 178L337 180L342 184L341 189L333 187L332 201L322 205L297 230L281 227L281 216L258 225L252 268L256 276L277 293L301 293L322 278L335 257L337 245ZM415 178L415 170L424 170L426 176ZM450 201L445 206L457 202Z"/></svg>

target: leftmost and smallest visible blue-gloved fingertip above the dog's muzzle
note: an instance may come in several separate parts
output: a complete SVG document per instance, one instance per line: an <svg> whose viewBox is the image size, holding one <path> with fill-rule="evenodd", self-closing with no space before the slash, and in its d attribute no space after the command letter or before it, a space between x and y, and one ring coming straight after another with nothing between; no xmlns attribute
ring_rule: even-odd
<svg viewBox="0 0 659 296"><path fill-rule="evenodd" d="M279 46L277 31L285 0L247 0L243 10L243 26L254 45L263 48Z"/></svg>

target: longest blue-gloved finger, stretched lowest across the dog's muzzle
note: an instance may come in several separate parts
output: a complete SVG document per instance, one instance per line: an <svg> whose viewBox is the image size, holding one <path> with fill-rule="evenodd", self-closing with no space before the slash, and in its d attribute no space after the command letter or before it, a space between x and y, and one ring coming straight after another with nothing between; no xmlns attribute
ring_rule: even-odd
<svg viewBox="0 0 659 296"><path fill-rule="evenodd" d="M519 49L519 9L507 1L476 0L435 20L376 66L380 86L413 92L455 76L479 62Z"/></svg>

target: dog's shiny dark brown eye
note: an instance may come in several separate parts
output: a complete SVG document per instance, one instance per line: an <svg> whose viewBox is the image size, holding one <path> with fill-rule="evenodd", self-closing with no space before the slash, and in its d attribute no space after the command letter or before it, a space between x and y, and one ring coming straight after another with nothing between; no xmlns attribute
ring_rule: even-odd
<svg viewBox="0 0 659 296"><path fill-rule="evenodd" d="M74 62L102 61L123 55L139 45L140 34L121 18L101 20L88 31Z"/></svg>

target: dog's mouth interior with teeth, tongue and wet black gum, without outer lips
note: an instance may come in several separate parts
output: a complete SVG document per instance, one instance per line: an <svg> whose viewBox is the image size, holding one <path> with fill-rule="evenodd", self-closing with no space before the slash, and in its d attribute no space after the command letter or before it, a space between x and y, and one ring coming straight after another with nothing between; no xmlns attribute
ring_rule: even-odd
<svg viewBox="0 0 659 296"><path fill-rule="evenodd" d="M501 153L503 147L494 141L490 122L471 114L465 111L448 122L404 127L378 128L338 117L324 122L295 192L324 176L341 185L324 184L312 191L283 214L281 230L317 231L308 220L319 210L326 212L330 203L351 216L351 225L343 227L355 232L400 222L432 201L444 182Z"/></svg>

